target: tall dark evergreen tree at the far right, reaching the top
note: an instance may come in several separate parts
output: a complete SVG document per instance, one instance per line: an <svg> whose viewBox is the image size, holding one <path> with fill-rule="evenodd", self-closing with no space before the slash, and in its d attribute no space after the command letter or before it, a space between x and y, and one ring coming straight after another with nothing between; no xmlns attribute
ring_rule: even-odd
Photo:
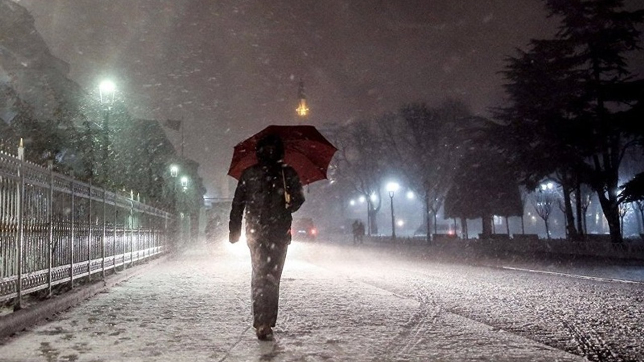
<svg viewBox="0 0 644 362"><path fill-rule="evenodd" d="M554 39L533 40L508 60L504 74L511 106L508 154L524 181L559 172L562 184L587 182L597 193L611 238L621 242L618 175L626 149L641 140L632 122L634 93L625 55L638 46L644 10L622 10L621 0L546 0L561 19ZM623 95L618 97L618 95ZM637 93L635 93L637 94Z"/></svg>

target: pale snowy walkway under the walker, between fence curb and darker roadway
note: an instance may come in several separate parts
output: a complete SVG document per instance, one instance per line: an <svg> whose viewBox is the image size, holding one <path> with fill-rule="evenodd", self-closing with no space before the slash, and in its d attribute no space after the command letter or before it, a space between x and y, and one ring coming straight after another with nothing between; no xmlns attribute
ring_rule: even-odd
<svg viewBox="0 0 644 362"><path fill-rule="evenodd" d="M245 245L195 247L0 346L0 361L583 361L298 258L254 336Z"/></svg>

